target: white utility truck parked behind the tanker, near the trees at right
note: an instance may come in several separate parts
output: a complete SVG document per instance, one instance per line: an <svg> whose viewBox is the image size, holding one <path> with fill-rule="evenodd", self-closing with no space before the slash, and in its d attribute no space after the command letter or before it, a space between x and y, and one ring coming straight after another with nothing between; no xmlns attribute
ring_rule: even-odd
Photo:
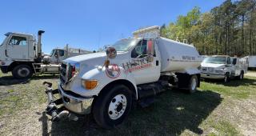
<svg viewBox="0 0 256 136"><path fill-rule="evenodd" d="M214 55L205 58L201 64L201 78L222 79L229 82L231 78L243 79L248 69L248 59Z"/></svg>

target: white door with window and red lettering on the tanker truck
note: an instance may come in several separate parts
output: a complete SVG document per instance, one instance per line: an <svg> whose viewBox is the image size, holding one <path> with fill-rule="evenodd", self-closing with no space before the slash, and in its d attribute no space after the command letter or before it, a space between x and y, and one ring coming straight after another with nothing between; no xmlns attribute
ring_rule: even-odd
<svg viewBox="0 0 256 136"><path fill-rule="evenodd" d="M154 54L148 54L150 47ZM155 54L154 40L138 42L130 54L130 74L133 75L137 85L149 82L156 82L160 77L159 57Z"/></svg>

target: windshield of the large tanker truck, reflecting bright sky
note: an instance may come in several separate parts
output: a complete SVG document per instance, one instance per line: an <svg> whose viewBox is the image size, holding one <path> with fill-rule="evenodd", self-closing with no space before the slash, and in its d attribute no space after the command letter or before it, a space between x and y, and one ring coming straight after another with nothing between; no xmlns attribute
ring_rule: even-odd
<svg viewBox="0 0 256 136"><path fill-rule="evenodd" d="M122 39L118 42L115 42L114 47L117 51L127 51L130 49L130 47L135 46L135 44L138 42L138 39L130 38L130 39Z"/></svg>

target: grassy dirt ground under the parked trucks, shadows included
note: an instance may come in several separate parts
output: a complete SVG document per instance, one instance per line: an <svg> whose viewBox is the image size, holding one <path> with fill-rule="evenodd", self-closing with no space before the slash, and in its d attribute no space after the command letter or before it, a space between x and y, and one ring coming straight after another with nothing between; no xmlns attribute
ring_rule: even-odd
<svg viewBox="0 0 256 136"><path fill-rule="evenodd" d="M50 122L44 81L56 87L58 77L21 81L0 73L0 135L256 135L256 78L248 74L242 82L202 82L195 94L167 90L113 130L99 128L91 115Z"/></svg>

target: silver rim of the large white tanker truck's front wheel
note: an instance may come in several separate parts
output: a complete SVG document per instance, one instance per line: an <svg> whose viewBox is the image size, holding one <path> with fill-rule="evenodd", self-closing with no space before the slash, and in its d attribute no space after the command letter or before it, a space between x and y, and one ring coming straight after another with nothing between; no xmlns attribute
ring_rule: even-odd
<svg viewBox="0 0 256 136"><path fill-rule="evenodd" d="M124 94L118 94L112 98L108 110L111 119L118 119L126 110L127 99Z"/></svg>

